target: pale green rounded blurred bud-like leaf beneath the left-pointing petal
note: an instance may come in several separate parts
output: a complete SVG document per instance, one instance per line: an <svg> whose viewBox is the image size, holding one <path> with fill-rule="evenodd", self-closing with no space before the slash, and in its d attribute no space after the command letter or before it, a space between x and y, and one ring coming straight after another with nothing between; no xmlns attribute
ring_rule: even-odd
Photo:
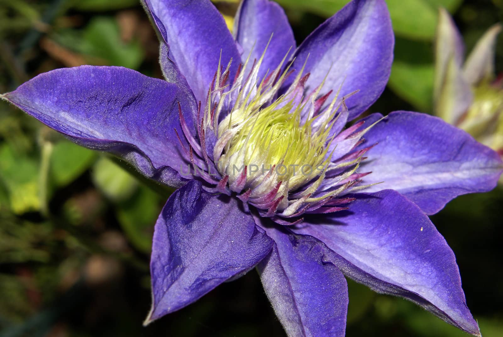
<svg viewBox="0 0 503 337"><path fill-rule="evenodd" d="M128 199L138 187L136 179L110 159L98 159L93 168L95 185L113 201Z"/></svg>

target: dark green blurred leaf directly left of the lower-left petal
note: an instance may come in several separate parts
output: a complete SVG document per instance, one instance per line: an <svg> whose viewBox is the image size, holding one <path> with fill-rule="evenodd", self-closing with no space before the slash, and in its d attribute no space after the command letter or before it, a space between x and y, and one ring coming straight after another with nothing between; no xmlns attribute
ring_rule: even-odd
<svg viewBox="0 0 503 337"><path fill-rule="evenodd" d="M116 215L122 230L131 244L142 252L150 252L153 226L163 201L154 191L140 186L129 200L117 207Z"/></svg>

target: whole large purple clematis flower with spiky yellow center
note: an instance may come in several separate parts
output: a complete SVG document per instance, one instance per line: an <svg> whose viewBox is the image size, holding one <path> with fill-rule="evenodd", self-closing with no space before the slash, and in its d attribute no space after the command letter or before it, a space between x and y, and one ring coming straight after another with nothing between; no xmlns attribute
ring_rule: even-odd
<svg viewBox="0 0 503 337"><path fill-rule="evenodd" d="M354 0L298 47L282 9L144 0L165 81L118 67L42 74L3 95L77 144L179 187L155 224L145 323L257 266L289 336L342 336L344 276L474 335L454 253L427 215L492 189L499 156L440 118L349 121L393 58L384 0Z"/></svg>

